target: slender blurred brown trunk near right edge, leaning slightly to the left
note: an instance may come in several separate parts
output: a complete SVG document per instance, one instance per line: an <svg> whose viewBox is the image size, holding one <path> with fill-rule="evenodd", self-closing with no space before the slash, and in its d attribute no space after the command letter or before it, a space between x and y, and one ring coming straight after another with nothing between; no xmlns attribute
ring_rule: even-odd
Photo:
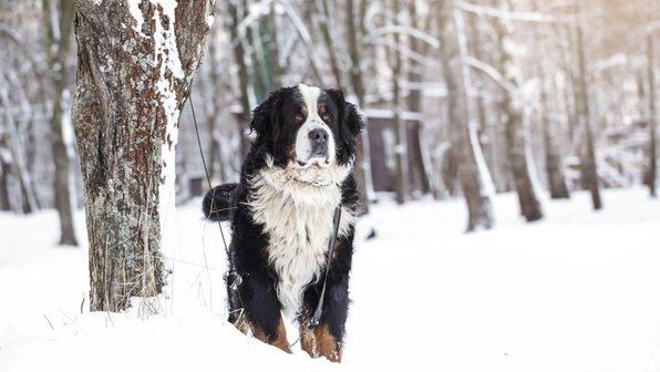
<svg viewBox="0 0 660 372"><path fill-rule="evenodd" d="M580 7L577 0L575 0L576 14L578 18L581 17ZM579 120L582 126L582 152L581 152L581 174L582 184L591 193L591 203L594 209L598 210L602 208L602 202L600 200L600 189L598 187L598 173L596 169L596 154L594 151L594 137L591 135L591 115L589 112L589 95L587 93L587 63L585 60L585 40L582 37L582 24L578 21L576 27L577 32L577 54L578 54L578 94L577 105L579 112Z"/></svg>

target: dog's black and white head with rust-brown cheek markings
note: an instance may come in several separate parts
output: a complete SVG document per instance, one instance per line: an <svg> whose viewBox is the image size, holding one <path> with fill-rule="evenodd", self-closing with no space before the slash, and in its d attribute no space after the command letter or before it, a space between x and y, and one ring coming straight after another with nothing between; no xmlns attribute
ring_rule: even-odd
<svg viewBox="0 0 660 372"><path fill-rule="evenodd" d="M254 111L254 147L280 167L350 165L362 118L338 90L299 84L271 92Z"/></svg>

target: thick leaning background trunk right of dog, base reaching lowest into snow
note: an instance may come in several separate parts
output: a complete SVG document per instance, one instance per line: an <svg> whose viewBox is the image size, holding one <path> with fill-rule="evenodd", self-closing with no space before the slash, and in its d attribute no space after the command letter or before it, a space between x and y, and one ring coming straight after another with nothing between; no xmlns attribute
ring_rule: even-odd
<svg viewBox="0 0 660 372"><path fill-rule="evenodd" d="M452 153L456 159L458 183L467 203L467 231L491 228L494 224L491 197L486 190L484 175L479 172L475 135L471 133L467 97L462 79L463 61L460 52L455 23L452 21L453 0L439 1L436 11L440 21L441 64L447 86L447 115Z"/></svg>

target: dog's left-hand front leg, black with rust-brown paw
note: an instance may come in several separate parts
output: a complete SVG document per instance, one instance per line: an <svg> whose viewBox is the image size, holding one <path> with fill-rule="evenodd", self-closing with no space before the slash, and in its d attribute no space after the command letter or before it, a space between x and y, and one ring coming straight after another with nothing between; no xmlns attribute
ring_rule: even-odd
<svg viewBox="0 0 660 372"><path fill-rule="evenodd" d="M241 332L291 353L272 279L264 272L243 273L227 283L229 321Z"/></svg>

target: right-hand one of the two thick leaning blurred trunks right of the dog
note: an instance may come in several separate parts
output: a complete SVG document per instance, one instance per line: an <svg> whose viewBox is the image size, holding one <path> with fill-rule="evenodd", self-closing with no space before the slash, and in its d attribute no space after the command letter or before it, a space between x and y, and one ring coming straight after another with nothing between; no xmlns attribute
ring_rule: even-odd
<svg viewBox="0 0 660 372"><path fill-rule="evenodd" d="M512 69L514 66L513 56L505 46L507 32L503 20L495 20L494 29L499 44L497 70L509 86L509 89L504 89L498 102L499 112L505 116L508 164L514 175L520 214L527 221L534 221L543 218L543 210L529 175L532 161L527 158L523 108L519 103L520 99L517 97L518 79Z"/></svg>

